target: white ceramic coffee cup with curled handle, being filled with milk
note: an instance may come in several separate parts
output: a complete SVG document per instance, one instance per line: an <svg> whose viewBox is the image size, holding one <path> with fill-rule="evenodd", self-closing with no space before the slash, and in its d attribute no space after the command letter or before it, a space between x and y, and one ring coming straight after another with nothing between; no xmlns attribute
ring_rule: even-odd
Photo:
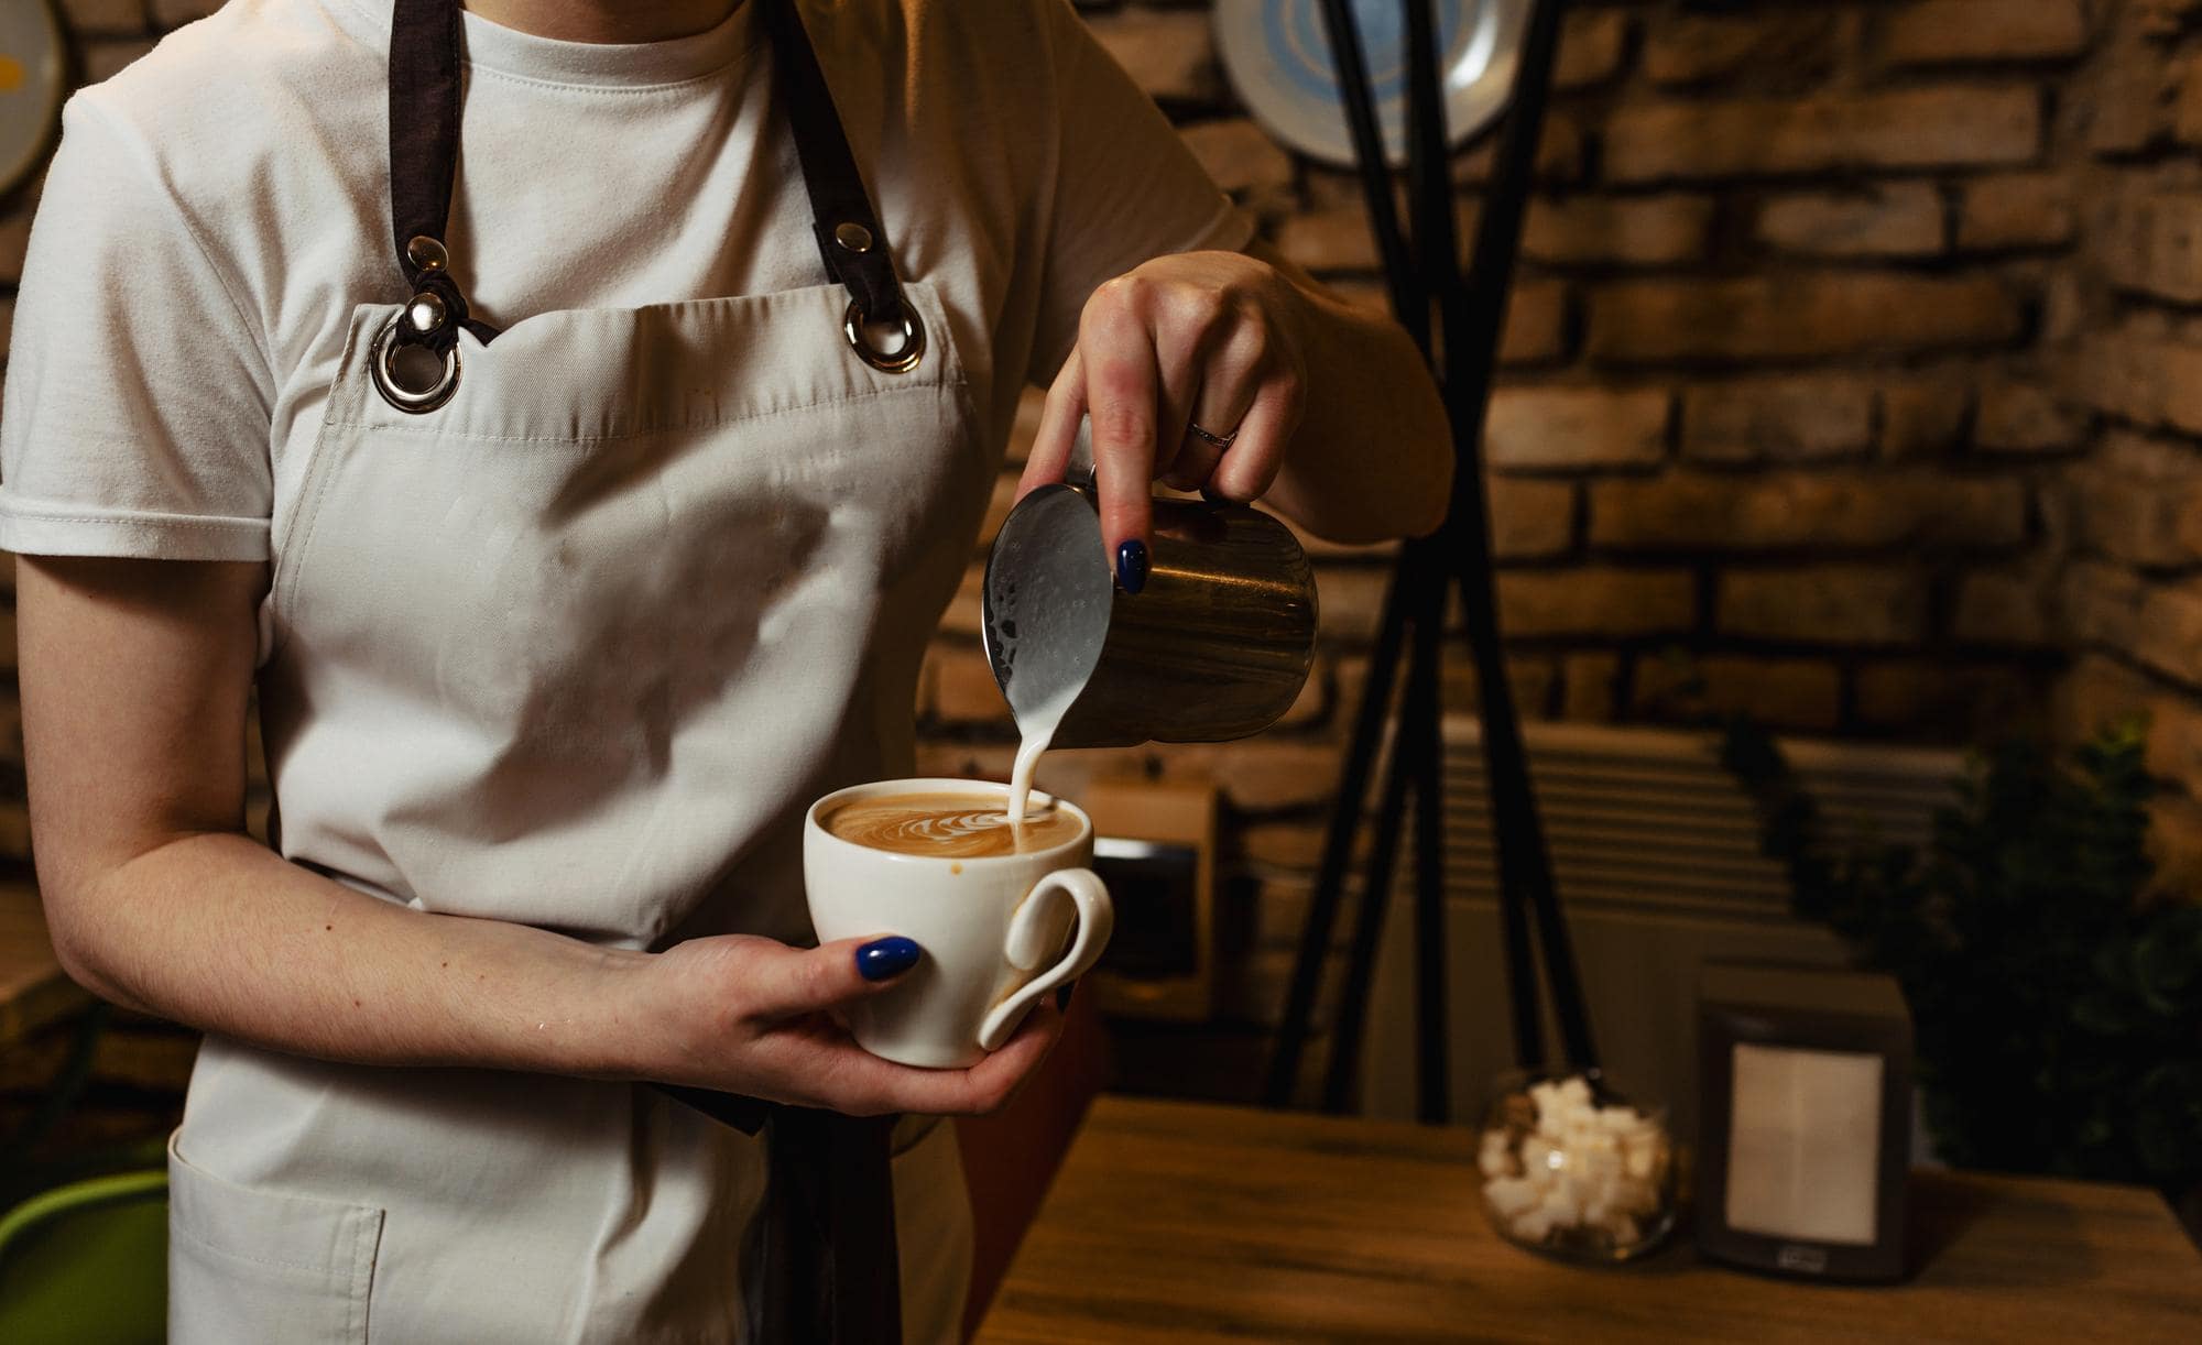
<svg viewBox="0 0 2202 1345"><path fill-rule="evenodd" d="M1035 790L1035 806L1079 821L1077 836L1028 854L949 859L843 841L819 821L885 795L967 795L1006 808L1009 786L887 779L835 790L804 817L804 892L819 940L901 933L925 953L892 991L848 1006L857 1043L903 1065L971 1065L1000 1050L1042 995L1101 960L1116 914L1086 867L1094 823Z"/></svg>

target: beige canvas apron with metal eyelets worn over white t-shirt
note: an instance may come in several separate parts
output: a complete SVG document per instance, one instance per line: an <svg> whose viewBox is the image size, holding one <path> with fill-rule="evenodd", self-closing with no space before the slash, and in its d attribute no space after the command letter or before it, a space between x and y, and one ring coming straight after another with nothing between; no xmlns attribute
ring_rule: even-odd
<svg viewBox="0 0 2202 1345"><path fill-rule="evenodd" d="M806 942L802 810L909 773L993 478L940 295L903 284L929 341L892 372L857 288L469 326L427 414L370 376L399 308L359 306L275 502L282 854L612 947ZM953 1127L896 1145L905 1338L949 1341ZM757 1338L764 1145L647 1087L209 1039L170 1167L176 1341Z"/></svg>

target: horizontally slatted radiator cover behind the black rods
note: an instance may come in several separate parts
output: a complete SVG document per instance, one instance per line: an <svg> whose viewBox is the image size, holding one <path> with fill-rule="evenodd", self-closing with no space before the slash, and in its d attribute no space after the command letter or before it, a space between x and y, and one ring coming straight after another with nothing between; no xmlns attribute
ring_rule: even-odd
<svg viewBox="0 0 2202 1345"><path fill-rule="evenodd" d="M1788 911L1781 867L1709 733L1528 724L1552 872L1603 1063L1696 1127L1698 966L1707 960L1839 964L1832 933ZM1953 799L1951 751L1784 742L1832 841L1920 843ZM1495 856L1478 722L1445 722L1445 966L1453 1118L1473 1120L1513 1065ZM1361 1054L1372 1116L1414 1114L1414 865L1400 848ZM1548 1054L1559 1059L1552 1019Z"/></svg>

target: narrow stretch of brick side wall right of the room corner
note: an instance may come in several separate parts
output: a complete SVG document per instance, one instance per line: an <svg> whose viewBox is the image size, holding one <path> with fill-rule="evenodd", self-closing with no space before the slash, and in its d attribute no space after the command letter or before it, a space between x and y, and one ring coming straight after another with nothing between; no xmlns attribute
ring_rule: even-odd
<svg viewBox="0 0 2202 1345"><path fill-rule="evenodd" d="M2059 119L2079 244L2054 277L2043 398L2090 416L2043 511L2052 588L2032 597L2072 652L2070 729L2147 711L2151 768L2180 788L2158 839L2202 887L2202 2L2129 0ZM2017 416L2024 418L2024 416Z"/></svg>

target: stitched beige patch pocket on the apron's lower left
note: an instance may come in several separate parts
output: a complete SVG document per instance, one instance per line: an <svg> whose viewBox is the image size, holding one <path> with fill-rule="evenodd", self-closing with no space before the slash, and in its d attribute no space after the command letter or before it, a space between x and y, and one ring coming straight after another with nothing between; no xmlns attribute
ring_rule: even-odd
<svg viewBox="0 0 2202 1345"><path fill-rule="evenodd" d="M240 1187L167 1145L167 1336L363 1345L383 1211Z"/></svg>

